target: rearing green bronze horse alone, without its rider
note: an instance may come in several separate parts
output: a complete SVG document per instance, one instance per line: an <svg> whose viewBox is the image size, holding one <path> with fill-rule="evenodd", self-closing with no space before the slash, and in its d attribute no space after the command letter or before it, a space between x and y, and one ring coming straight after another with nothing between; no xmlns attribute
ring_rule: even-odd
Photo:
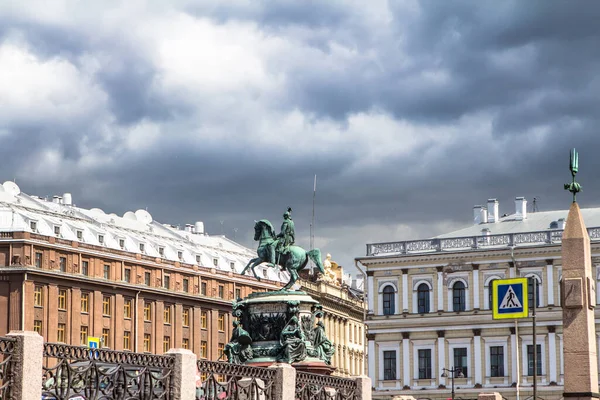
<svg viewBox="0 0 600 400"><path fill-rule="evenodd" d="M258 241L258 249L256 253L258 257L253 258L248 262L248 265L242 271L242 275L250 268L254 277L258 280L260 278L256 275L254 267L263 262L269 263L269 266L275 267L271 263L271 253L276 251L277 236L273 225L266 220L261 219L254 224L254 240ZM290 273L290 281L281 290L289 290L294 283L298 280L298 271L301 271L308 264L308 260L312 260L313 263L319 269L321 274L325 273L323 263L321 262L321 250L313 249L306 251L300 246L292 245L289 247L289 251L285 254L276 254L275 259L279 260L279 265L283 270L287 270Z"/></svg>

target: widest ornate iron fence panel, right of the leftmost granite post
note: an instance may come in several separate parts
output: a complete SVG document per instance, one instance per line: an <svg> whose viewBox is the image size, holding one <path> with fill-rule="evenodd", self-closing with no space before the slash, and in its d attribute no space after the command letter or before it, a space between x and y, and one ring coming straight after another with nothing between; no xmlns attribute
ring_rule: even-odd
<svg viewBox="0 0 600 400"><path fill-rule="evenodd" d="M170 400L172 356L44 344L42 398Z"/></svg>

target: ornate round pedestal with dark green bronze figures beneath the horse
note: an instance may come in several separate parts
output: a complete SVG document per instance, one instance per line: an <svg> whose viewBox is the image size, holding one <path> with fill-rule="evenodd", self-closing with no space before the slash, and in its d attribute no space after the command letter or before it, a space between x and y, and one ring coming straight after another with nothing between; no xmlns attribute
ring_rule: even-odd
<svg viewBox="0 0 600 400"><path fill-rule="evenodd" d="M322 306L301 291L253 293L233 305L237 318L228 361L268 366L285 362L298 370L329 375L334 347L319 319Z"/></svg>

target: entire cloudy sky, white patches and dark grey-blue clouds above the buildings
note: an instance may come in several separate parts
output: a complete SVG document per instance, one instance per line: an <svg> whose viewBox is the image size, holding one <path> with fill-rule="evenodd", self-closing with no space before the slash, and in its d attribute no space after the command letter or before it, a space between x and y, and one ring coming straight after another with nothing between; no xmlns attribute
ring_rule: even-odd
<svg viewBox="0 0 600 400"><path fill-rule="evenodd" d="M0 1L0 179L345 266L515 196L600 205L600 3ZM221 221L223 223L221 224ZM235 231L237 229L237 232Z"/></svg>

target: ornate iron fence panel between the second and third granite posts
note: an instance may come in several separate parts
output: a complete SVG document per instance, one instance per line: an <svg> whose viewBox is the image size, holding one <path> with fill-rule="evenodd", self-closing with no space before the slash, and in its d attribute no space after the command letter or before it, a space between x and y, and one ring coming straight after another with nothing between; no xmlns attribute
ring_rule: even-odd
<svg viewBox="0 0 600 400"><path fill-rule="evenodd" d="M197 365L200 384L196 400L268 400L273 396L272 369L204 360Z"/></svg>

